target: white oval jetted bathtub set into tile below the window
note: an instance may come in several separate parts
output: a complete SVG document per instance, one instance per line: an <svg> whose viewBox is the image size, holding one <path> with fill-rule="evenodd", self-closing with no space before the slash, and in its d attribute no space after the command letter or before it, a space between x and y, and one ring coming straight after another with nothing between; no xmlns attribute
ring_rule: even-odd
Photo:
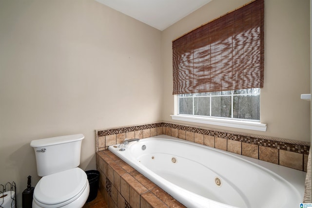
<svg viewBox="0 0 312 208"><path fill-rule="evenodd" d="M167 135L110 151L188 208L297 208L306 173Z"/></svg>

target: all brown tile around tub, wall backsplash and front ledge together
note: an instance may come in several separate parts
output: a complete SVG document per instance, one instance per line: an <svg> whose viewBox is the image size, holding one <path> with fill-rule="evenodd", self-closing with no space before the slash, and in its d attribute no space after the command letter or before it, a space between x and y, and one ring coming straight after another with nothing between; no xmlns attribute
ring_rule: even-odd
<svg viewBox="0 0 312 208"><path fill-rule="evenodd" d="M108 146L119 144L125 138L143 139L161 134L250 156L297 170L307 171L310 148L310 143L308 142L183 126L165 122L96 130L97 168L101 170L100 190L105 196L105 201L109 203L109 207L136 207L130 206L130 204L134 205L133 201L131 203L129 202L130 198L133 198L130 197L130 192L132 196L137 197L136 202L138 202L139 198L139 207L141 208L184 207L131 166L107 150ZM254 151L256 153L254 153ZM309 167L308 174L311 175L311 165ZM120 183L118 182L119 177ZM125 190L122 191L123 194L121 194L121 182L122 187L126 187ZM150 186L149 184L152 185ZM147 192L143 191L143 193L141 193L140 188L142 187L144 187L143 190ZM311 187L311 180L306 180L306 187ZM305 198L308 199L306 199L305 202L308 203L311 199L311 197L309 198L311 192L306 192L308 192L308 194L305 193ZM136 194L139 195L139 197ZM126 199L129 199L129 201Z"/></svg>

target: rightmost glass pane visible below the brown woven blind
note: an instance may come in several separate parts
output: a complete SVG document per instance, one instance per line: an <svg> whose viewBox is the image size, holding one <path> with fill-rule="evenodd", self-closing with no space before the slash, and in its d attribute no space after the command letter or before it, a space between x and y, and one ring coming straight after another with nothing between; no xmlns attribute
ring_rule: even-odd
<svg viewBox="0 0 312 208"><path fill-rule="evenodd" d="M233 117L260 120L260 95L234 96Z"/></svg>

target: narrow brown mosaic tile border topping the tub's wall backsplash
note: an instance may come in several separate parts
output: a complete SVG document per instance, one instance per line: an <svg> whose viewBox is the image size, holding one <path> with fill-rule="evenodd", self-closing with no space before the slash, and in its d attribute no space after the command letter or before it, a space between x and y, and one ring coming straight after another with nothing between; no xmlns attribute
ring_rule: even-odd
<svg viewBox="0 0 312 208"><path fill-rule="evenodd" d="M136 131L159 128L159 127L164 127L164 128L167 127L167 128L182 130L186 132L200 133L200 134L215 136L215 137L219 137L223 139L229 139L229 140L239 141L239 142L248 143L248 144L254 144L254 145L263 146L263 147L270 147L270 148L278 149L278 150L292 151L292 152L297 152L301 154L309 154L309 149L310 149L309 142L281 139L281 138L261 136L261 135L255 135L255 134L247 134L247 133L242 133L242 132L231 132L231 131L225 131L225 130L219 130L219 129L180 125L180 124L175 124L175 123L170 123L170 122L156 122L156 123L145 124L145 125L96 130L96 151L99 151L98 137L113 135L113 134L127 133L127 132L136 132ZM106 146L105 146L105 149L107 149Z"/></svg>

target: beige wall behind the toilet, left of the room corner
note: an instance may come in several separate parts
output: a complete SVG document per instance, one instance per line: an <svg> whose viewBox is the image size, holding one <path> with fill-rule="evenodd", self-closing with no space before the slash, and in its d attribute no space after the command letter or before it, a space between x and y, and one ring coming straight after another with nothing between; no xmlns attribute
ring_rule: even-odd
<svg viewBox="0 0 312 208"><path fill-rule="evenodd" d="M30 141L161 120L161 32L94 0L0 0L0 184L18 203L36 163ZM153 96L150 96L153 95Z"/></svg>

